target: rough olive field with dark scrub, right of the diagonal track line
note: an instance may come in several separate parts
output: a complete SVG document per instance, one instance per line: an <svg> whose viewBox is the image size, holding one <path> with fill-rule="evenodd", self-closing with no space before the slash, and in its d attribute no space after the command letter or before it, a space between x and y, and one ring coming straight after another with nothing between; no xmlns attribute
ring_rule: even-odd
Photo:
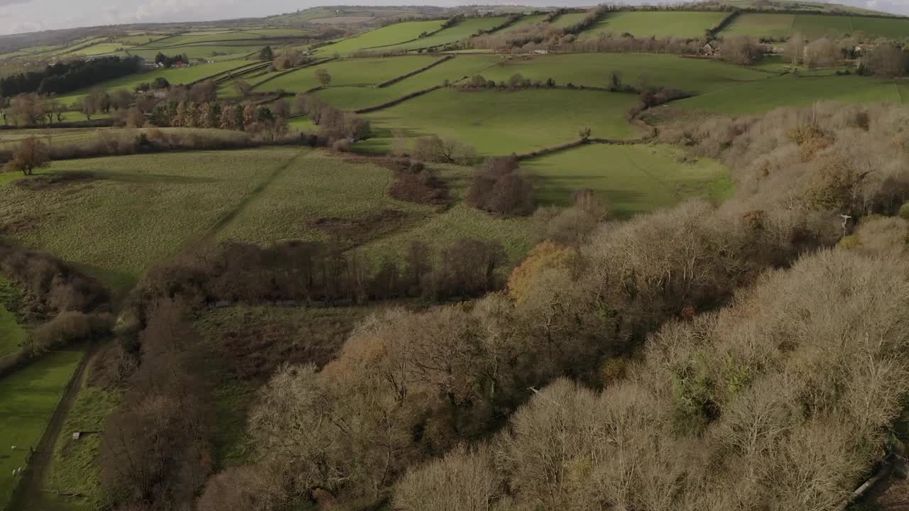
<svg viewBox="0 0 909 511"><path fill-rule="evenodd" d="M473 175L470 167L430 165L455 197ZM411 240L447 245L461 237L500 242L513 261L530 248L527 218L499 219L459 203L440 212L387 195L393 175L384 167L345 163L322 153L300 158L273 185L225 225L226 240L269 243L304 239L362 247L371 262L402 255ZM325 225L319 219L331 219Z"/></svg>

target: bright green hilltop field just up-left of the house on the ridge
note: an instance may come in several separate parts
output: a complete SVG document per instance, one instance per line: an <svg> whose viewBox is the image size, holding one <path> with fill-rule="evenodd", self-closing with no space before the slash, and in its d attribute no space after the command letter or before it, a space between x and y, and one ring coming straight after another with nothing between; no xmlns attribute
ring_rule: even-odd
<svg viewBox="0 0 909 511"><path fill-rule="evenodd" d="M703 37L704 31L719 25L728 13L685 12L685 11L622 11L605 15L582 38L597 37L600 34L635 37Z"/></svg>

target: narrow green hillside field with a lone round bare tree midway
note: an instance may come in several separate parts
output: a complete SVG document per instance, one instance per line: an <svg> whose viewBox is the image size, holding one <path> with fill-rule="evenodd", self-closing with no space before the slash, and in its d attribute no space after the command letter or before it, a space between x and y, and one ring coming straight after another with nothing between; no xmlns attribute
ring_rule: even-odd
<svg viewBox="0 0 909 511"><path fill-rule="evenodd" d="M315 77L319 69L325 69L332 76L330 85L332 87L375 85L430 65L436 58L439 57L406 55L338 60L324 65L298 69L260 85L255 90L276 91L280 89L287 92L303 92L319 85L319 81Z"/></svg>

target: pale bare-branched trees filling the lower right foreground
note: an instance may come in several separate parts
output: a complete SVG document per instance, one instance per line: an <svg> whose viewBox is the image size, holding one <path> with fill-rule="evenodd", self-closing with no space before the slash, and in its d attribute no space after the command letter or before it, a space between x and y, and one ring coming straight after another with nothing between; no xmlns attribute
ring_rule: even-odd
<svg viewBox="0 0 909 511"><path fill-rule="evenodd" d="M393 507L836 508L909 390L907 299L905 259L807 257L719 314L664 326L602 392L556 381L490 445L408 473Z"/></svg>

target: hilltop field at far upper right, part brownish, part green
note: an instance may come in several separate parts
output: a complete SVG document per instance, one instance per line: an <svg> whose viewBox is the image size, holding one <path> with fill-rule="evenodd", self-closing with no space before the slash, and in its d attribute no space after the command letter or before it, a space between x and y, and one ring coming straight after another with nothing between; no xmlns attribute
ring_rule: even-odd
<svg viewBox="0 0 909 511"><path fill-rule="evenodd" d="M909 20L868 16L747 13L740 15L721 35L754 35L780 40L789 35L802 34L809 39L816 39L824 35L838 38L856 31L864 32L871 39L901 39L909 36Z"/></svg>

